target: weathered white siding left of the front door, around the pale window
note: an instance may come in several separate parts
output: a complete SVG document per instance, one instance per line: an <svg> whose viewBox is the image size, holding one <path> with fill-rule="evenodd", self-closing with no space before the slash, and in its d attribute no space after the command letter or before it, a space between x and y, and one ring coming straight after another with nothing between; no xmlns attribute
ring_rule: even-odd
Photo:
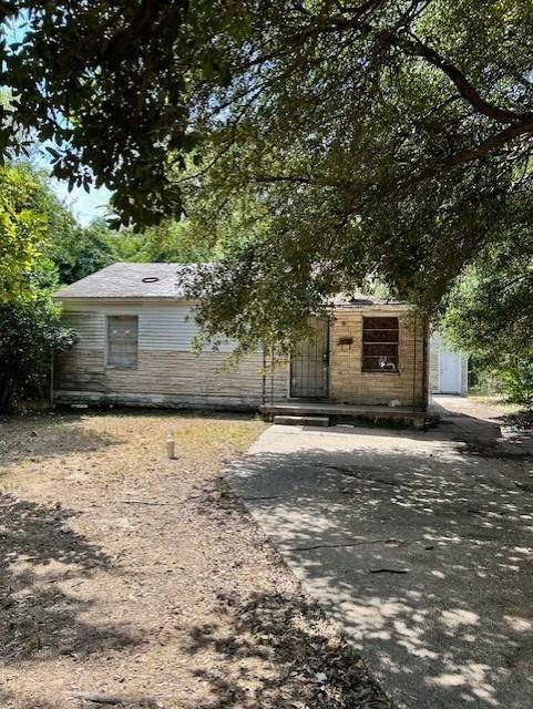
<svg viewBox="0 0 533 709"><path fill-rule="evenodd" d="M57 358L55 401L256 409L266 398L286 395L286 369L264 368L263 352L228 360L219 351L191 349L197 327L193 310L182 304L78 304L63 315L78 343ZM106 366L105 322L109 315L139 317L135 368Z"/></svg>

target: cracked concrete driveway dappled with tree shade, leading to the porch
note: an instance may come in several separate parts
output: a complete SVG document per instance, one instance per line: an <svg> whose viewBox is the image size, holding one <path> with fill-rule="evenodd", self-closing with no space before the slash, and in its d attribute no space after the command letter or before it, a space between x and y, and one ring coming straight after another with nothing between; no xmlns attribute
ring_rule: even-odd
<svg viewBox="0 0 533 709"><path fill-rule="evenodd" d="M495 412L271 427L227 479L398 707L533 707L533 459Z"/></svg>

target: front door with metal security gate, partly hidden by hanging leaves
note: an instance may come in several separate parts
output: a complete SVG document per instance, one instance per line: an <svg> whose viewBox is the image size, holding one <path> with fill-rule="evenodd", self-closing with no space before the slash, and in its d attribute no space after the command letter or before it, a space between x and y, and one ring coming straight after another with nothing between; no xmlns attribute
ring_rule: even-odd
<svg viewBox="0 0 533 709"><path fill-rule="evenodd" d="M301 342L290 358L290 395L296 399L326 399L329 374L329 323L314 318L314 336Z"/></svg>

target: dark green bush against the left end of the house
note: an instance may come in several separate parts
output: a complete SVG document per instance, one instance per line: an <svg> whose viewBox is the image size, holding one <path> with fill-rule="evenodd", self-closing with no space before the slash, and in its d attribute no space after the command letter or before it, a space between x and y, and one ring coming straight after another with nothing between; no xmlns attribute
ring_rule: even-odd
<svg viewBox="0 0 533 709"><path fill-rule="evenodd" d="M45 295L0 306L0 410L49 393L52 352L75 341Z"/></svg>

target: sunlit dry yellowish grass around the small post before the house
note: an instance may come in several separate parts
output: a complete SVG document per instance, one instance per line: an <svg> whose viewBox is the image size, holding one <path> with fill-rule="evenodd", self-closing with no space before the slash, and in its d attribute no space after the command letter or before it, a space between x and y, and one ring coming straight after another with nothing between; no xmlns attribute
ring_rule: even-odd
<svg viewBox="0 0 533 709"><path fill-rule="evenodd" d="M11 417L0 427L0 474L8 481L42 467L43 477L89 474L110 482L180 466L225 462L243 453L265 424L253 415L112 410ZM176 443L176 462L166 459L165 440ZM9 484L9 483L8 483Z"/></svg>

